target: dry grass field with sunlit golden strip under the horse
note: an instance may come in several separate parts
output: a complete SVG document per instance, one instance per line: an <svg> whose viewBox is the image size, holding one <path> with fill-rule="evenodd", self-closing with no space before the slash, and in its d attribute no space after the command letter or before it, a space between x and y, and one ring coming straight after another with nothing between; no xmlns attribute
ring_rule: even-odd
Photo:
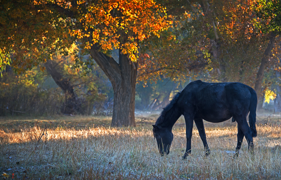
<svg viewBox="0 0 281 180"><path fill-rule="evenodd" d="M170 154L163 157L152 135L158 114L136 117L134 128L111 128L110 117L1 118L0 172L8 179L281 179L280 114L258 115L255 156L244 139L236 160L236 122L205 122L208 158L194 125L191 155L182 160L182 117L173 128ZM47 139L45 132L38 143L45 124Z"/></svg>

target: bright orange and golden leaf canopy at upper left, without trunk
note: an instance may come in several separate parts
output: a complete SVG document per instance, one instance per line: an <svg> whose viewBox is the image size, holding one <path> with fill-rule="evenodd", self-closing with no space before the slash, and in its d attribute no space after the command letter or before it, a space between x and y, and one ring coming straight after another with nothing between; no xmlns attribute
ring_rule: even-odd
<svg viewBox="0 0 281 180"><path fill-rule="evenodd" d="M57 52L67 55L73 41L79 42L82 54L98 44L105 54L120 48L137 61L140 42L160 37L173 22L167 20L165 7L151 0L13 0L1 1L0 12L0 50L12 54L11 66L18 72L41 66ZM77 67L92 65L75 62ZM7 64L1 60L0 68Z"/></svg>

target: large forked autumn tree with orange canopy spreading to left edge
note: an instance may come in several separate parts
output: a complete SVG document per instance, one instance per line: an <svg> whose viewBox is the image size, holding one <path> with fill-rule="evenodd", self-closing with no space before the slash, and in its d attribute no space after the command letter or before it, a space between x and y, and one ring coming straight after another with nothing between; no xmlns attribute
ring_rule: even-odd
<svg viewBox="0 0 281 180"><path fill-rule="evenodd" d="M0 49L3 56L13 55L1 66L11 63L23 71L76 41L81 53L90 53L111 81L112 126L135 126L139 45L151 35L160 37L171 24L164 7L151 0L22 0L0 6ZM111 57L113 48L119 49L117 61ZM76 66L85 64L76 61Z"/></svg>

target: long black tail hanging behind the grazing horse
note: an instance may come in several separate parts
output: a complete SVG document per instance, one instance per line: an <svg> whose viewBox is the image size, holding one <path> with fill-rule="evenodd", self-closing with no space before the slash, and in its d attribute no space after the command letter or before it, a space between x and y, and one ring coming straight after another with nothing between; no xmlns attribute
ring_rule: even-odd
<svg viewBox="0 0 281 180"><path fill-rule="evenodd" d="M255 90L253 88L249 88L251 92L251 102L250 102L250 114L249 114L249 124L250 128L253 133L253 137L257 136L257 129L256 129L256 110L257 110L257 103L258 103L258 98Z"/></svg>

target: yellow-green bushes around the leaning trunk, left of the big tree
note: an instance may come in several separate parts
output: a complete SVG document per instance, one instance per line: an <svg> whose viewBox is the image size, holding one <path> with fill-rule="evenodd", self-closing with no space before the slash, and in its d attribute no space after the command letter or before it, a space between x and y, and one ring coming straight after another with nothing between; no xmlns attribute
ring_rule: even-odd
<svg viewBox="0 0 281 180"><path fill-rule="evenodd" d="M92 73L85 74L82 69L74 68L74 56L63 58L61 55L53 56L57 62L57 69L63 77L71 81L81 108L77 114L104 114L109 115L111 108L107 100L112 94L111 85L105 75L94 66ZM63 92L54 81L47 85L50 76L38 68L16 75L12 72L3 73L0 85L0 115L33 114L52 115L60 114L66 101L67 92ZM46 81L48 80L48 82Z"/></svg>

